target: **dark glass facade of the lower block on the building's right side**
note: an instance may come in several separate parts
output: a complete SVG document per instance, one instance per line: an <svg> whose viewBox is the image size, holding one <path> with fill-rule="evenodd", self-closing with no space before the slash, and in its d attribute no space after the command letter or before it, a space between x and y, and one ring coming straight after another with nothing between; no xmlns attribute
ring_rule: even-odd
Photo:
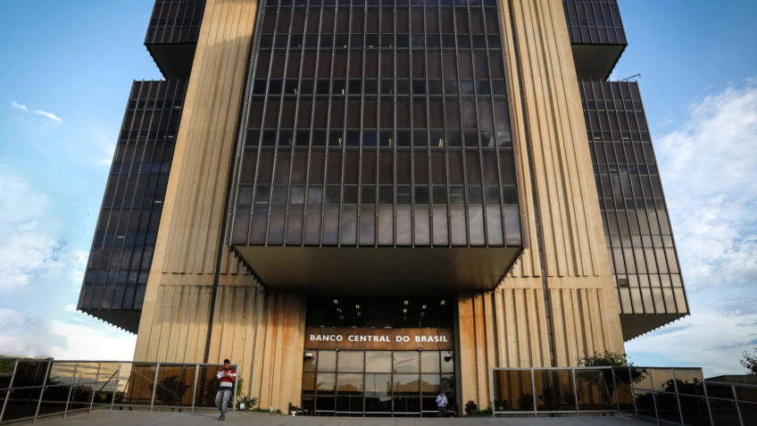
<svg viewBox="0 0 757 426"><path fill-rule="evenodd" d="M638 85L582 80L579 87L621 312L688 313Z"/></svg>

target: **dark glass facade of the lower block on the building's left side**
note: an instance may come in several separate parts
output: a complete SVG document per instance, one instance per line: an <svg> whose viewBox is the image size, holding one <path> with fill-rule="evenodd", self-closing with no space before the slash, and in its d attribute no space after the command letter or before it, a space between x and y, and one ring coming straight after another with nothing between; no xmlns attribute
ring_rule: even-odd
<svg viewBox="0 0 757 426"><path fill-rule="evenodd" d="M79 309L137 332L187 80L135 81L116 144Z"/></svg>

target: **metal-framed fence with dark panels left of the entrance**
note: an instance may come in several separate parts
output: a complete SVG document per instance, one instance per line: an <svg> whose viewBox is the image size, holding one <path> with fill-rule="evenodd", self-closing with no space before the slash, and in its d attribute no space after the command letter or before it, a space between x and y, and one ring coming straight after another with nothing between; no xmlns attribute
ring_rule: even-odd
<svg viewBox="0 0 757 426"><path fill-rule="evenodd" d="M212 363L15 360L0 367L0 423L37 422L45 416L91 413L93 408L212 408L221 368Z"/></svg>

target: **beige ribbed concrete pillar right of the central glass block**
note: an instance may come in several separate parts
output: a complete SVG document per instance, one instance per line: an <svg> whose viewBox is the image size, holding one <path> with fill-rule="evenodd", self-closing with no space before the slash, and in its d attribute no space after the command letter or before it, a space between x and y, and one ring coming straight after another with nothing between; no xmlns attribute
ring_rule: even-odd
<svg viewBox="0 0 757 426"><path fill-rule="evenodd" d="M490 367L568 366L623 351L562 2L500 8L528 248L494 291L459 297L459 401L482 406Z"/></svg>

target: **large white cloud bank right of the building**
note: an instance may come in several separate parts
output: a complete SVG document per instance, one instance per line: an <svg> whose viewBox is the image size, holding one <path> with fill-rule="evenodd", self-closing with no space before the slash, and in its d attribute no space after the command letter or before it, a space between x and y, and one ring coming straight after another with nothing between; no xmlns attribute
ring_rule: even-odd
<svg viewBox="0 0 757 426"><path fill-rule="evenodd" d="M656 144L689 288L757 278L757 80L695 100ZM727 278L728 277L728 278Z"/></svg>

